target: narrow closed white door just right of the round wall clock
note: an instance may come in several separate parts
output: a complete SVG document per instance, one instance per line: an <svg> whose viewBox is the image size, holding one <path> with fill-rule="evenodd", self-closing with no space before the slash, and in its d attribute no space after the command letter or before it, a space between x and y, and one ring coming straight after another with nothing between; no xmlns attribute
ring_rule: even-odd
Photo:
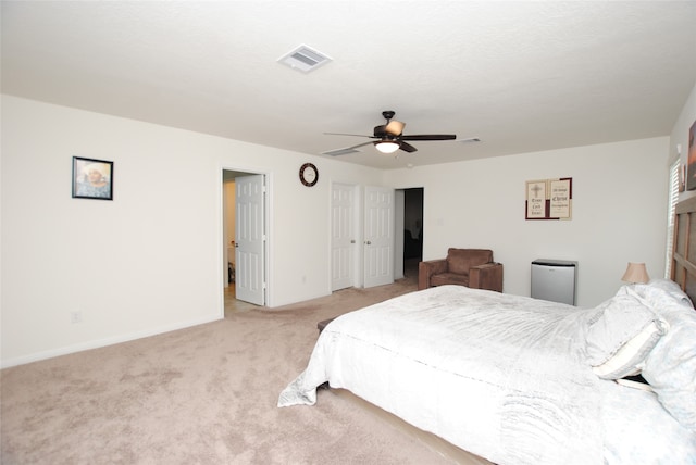
<svg viewBox="0 0 696 465"><path fill-rule="evenodd" d="M355 286L356 188L334 183L331 200L331 290Z"/></svg>

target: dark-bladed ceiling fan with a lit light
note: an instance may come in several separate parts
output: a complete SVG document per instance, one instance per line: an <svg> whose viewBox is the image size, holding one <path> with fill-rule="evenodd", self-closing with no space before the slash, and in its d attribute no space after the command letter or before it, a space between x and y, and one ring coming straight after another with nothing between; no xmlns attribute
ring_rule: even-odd
<svg viewBox="0 0 696 465"><path fill-rule="evenodd" d="M401 123L400 121L393 120L396 113L388 110L382 112L382 116L387 121L386 124L375 126L373 136L364 136L360 134L343 134L343 133L324 133L328 136L357 136L357 137L368 137L370 139L377 139L370 142L359 143L357 146L348 147L346 149L340 149L341 153L350 153L350 150L357 149L358 147L368 146L370 143L374 144L374 147L382 153L389 154L394 153L397 150L401 149L405 152L415 152L418 149L407 140L452 140L456 139L457 136L453 134L419 134L419 135L409 135L405 136L402 134L403 127L406 123ZM338 151L336 151L338 152ZM330 153L330 152L326 152ZM338 153L336 153L338 154Z"/></svg>

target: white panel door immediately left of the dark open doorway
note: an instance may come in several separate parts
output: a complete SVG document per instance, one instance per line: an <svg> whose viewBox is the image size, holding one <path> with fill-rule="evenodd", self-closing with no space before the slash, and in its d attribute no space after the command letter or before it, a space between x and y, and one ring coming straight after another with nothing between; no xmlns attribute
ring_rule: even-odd
<svg viewBox="0 0 696 465"><path fill-rule="evenodd" d="M365 187L364 287L394 282L394 189Z"/></svg>

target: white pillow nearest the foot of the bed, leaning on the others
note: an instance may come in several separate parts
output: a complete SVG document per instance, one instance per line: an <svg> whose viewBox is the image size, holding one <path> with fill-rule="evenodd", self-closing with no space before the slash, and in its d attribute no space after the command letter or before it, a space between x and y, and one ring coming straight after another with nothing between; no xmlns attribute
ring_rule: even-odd
<svg viewBox="0 0 696 465"><path fill-rule="evenodd" d="M597 306L585 339L587 362L602 379L618 379L641 372L650 350L668 325L638 298L614 296Z"/></svg>

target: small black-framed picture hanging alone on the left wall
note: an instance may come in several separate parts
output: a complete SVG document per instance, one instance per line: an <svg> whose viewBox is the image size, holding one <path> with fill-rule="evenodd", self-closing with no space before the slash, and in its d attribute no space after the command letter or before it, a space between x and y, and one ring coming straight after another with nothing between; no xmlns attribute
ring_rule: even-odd
<svg viewBox="0 0 696 465"><path fill-rule="evenodd" d="M73 156L73 199L113 200L113 162Z"/></svg>

